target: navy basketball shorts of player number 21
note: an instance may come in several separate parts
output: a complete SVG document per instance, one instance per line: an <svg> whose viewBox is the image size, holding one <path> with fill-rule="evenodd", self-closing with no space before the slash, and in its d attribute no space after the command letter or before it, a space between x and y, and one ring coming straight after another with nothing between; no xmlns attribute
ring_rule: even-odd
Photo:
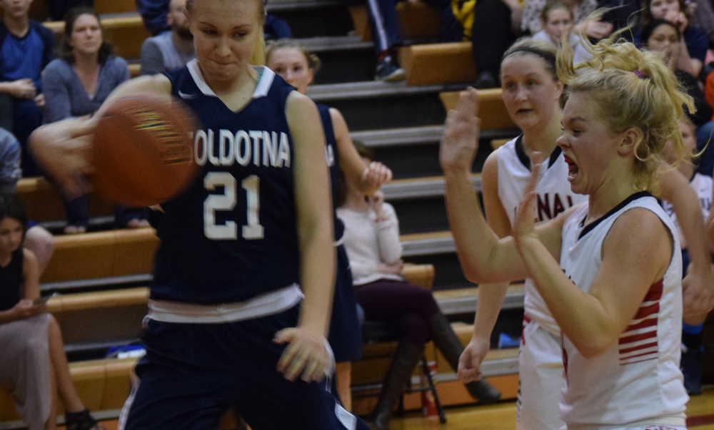
<svg viewBox="0 0 714 430"><path fill-rule="evenodd" d="M367 429L338 404L329 379L290 382L276 371L285 345L273 337L296 326L298 308L223 324L149 319L146 356L136 365L140 382L121 411L120 428L216 429L235 409L253 430Z"/></svg>

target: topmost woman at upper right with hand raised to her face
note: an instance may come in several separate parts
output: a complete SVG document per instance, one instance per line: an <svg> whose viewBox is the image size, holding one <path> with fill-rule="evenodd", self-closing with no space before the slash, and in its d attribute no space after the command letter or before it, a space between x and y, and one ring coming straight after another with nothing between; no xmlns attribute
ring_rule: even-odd
<svg viewBox="0 0 714 430"><path fill-rule="evenodd" d="M683 46L676 58L677 68L698 78L707 55L709 40L702 29L689 24L685 0L645 0L640 31L635 33L635 44L646 43L641 32L653 19L666 19L675 24L680 36L679 43Z"/></svg>

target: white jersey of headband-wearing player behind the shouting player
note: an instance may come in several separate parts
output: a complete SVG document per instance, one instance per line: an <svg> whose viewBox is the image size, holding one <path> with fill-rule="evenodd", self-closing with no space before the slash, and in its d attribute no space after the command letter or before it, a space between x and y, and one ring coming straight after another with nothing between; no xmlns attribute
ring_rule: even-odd
<svg viewBox="0 0 714 430"><path fill-rule="evenodd" d="M531 161L523 150L523 135L508 141L496 150L498 155L498 198L506 210L511 225L516 220L516 210L523 200L523 194L531 180ZM568 165L563 159L560 148L555 148L548 160L543 162L538 182L535 184L536 219L550 220L565 212L570 206L588 200L588 196L575 194L570 190L568 182ZM560 329L555 318L550 314L548 305L538 290L535 290L532 280L526 280L526 299L524 308L526 316L538 322L540 327L560 336Z"/></svg>

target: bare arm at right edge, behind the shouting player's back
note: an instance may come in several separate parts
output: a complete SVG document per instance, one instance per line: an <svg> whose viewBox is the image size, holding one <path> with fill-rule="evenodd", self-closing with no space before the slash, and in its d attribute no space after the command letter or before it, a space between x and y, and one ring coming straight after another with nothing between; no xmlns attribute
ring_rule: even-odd
<svg viewBox="0 0 714 430"><path fill-rule="evenodd" d="M658 197L672 203L692 259L682 282L684 319L688 324L701 324L714 306L714 279L707 237L701 233L704 217L699 199L687 178L668 165L660 170L660 184Z"/></svg>

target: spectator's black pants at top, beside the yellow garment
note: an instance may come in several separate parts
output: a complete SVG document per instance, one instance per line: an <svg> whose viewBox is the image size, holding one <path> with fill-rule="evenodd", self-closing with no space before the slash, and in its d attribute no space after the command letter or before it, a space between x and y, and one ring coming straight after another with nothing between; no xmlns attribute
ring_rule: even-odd
<svg viewBox="0 0 714 430"><path fill-rule="evenodd" d="M511 8L501 0L478 0L471 29L476 73L489 71L498 76L503 53L515 40L511 31Z"/></svg>

